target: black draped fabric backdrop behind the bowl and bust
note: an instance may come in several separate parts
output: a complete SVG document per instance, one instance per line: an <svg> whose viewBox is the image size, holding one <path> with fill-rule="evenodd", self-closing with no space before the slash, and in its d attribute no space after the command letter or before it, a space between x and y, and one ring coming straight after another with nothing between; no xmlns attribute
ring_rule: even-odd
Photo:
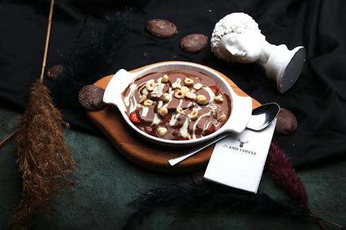
<svg viewBox="0 0 346 230"><path fill-rule="evenodd" d="M24 111L30 87L41 73L48 10L47 0L0 1L0 106ZM275 82L265 77L262 68L255 64L226 63L217 59L209 46L197 54L181 50L179 41L182 37L202 33L210 38L215 23L231 12L251 15L271 44L286 44L290 49L304 46L307 49L302 74L289 91L283 95L277 93ZM338 159L346 153L345 12L344 0L147 0L116 3L57 0L46 69L64 64L66 59L69 64L71 60L75 63L80 61L75 68L98 69L100 65L104 66L95 73L84 71L78 77L72 76L75 81L67 76L70 80L53 82L46 78L45 83L52 88L52 97L71 128L98 135L98 129L89 122L78 104L78 89L82 86L120 68L131 70L158 61L193 61L210 66L230 77L261 103L277 102L295 114L298 130L292 135L275 135L274 138L296 167L307 167ZM114 25L105 23L110 17L119 18L117 26L111 28L112 38L116 39L112 44L116 48L111 55L104 55L107 49L95 56L81 52L90 48L100 26ZM172 21L178 34L169 39L150 35L145 30L145 23L153 18ZM106 60L104 63L98 61L101 56ZM84 57L89 59L84 61Z"/></svg>

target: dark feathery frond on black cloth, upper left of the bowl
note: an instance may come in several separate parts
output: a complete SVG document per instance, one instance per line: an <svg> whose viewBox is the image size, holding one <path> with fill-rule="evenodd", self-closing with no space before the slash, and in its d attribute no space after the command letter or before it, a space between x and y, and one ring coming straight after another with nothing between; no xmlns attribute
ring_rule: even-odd
<svg viewBox="0 0 346 230"><path fill-rule="evenodd" d="M52 88L58 105L78 104L79 90L107 75L111 64L116 61L114 56L127 33L130 19L131 10L118 11L102 22L84 28L90 31L90 36L62 57L64 73Z"/></svg>

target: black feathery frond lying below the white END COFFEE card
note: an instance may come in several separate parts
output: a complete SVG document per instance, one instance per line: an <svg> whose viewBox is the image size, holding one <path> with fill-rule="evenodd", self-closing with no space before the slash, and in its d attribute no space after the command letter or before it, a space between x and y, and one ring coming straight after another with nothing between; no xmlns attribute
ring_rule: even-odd
<svg viewBox="0 0 346 230"><path fill-rule="evenodd" d="M188 188L176 185L154 188L140 195L129 203L129 206L137 210L129 216L122 229L133 229L136 223L140 223L154 209L163 206L170 207L179 213L224 209L309 218L309 211L297 202L273 200L265 193L247 193L207 183Z"/></svg>

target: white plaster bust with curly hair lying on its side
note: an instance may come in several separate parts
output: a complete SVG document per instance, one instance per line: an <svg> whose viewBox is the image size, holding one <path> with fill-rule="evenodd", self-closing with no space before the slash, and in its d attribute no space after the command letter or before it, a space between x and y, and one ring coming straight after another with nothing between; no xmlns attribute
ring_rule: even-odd
<svg viewBox="0 0 346 230"><path fill-rule="evenodd" d="M216 23L210 45L220 59L263 66L266 76L277 82L280 93L293 86L305 60L304 47L289 50L286 45L269 44L256 21L242 12L226 15Z"/></svg>

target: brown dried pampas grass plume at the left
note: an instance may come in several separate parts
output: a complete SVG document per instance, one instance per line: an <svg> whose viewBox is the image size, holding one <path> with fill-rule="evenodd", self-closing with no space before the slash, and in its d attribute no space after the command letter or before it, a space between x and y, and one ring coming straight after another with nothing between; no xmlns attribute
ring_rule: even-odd
<svg viewBox="0 0 346 230"><path fill-rule="evenodd" d="M73 189L76 183L69 178L77 164L64 142L62 115L42 81L34 84L28 107L20 119L17 163L23 173L23 191L10 221L12 229L28 229L33 216L53 211L50 201L62 195L61 189Z"/></svg>

